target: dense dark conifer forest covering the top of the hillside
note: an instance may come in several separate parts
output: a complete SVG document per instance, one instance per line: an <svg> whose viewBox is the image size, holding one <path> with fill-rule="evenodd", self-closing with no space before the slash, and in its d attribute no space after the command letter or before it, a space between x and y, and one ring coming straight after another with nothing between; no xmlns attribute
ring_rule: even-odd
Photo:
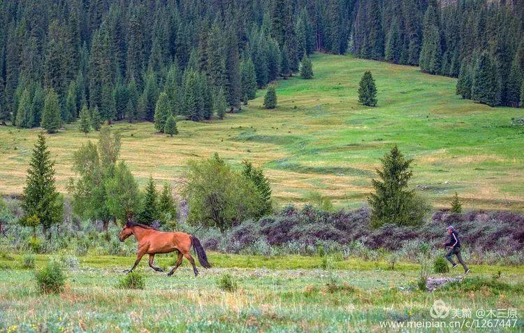
<svg viewBox="0 0 524 333"><path fill-rule="evenodd" d="M314 51L420 64L460 77L464 98L518 106L524 9L506 2L0 0L0 122L56 127L83 105L153 120L162 92L173 114L209 119Z"/></svg>

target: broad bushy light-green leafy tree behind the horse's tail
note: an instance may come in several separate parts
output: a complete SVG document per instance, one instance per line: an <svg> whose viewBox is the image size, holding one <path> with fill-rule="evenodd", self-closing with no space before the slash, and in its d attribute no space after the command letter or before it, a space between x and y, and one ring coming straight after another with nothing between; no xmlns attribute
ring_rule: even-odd
<svg viewBox="0 0 524 333"><path fill-rule="evenodd" d="M182 195L189 206L188 222L211 225L222 232L261 211L259 192L216 153L203 161L189 162Z"/></svg>

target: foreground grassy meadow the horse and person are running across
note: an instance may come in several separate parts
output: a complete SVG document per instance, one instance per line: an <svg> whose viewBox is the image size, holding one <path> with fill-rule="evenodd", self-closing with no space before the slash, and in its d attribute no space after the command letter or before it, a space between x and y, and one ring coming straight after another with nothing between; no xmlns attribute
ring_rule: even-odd
<svg viewBox="0 0 524 333"><path fill-rule="evenodd" d="M38 255L37 269L48 259ZM432 320L437 299L473 313L524 307L523 267L472 265L460 288L422 292L412 287L420 274L416 263L400 262L391 270L386 262L334 258L321 269L321 257L210 253L214 268L201 269L198 278L185 261L168 278L143 260L138 271L145 289L117 288L133 260L80 257L80 267L67 271L61 295L41 295L34 271L21 268L19 255L0 257L0 332L391 332L380 322ZM160 256L157 264L167 268L173 256ZM224 273L234 276L238 290L219 288ZM523 327L520 318L508 330Z"/></svg>

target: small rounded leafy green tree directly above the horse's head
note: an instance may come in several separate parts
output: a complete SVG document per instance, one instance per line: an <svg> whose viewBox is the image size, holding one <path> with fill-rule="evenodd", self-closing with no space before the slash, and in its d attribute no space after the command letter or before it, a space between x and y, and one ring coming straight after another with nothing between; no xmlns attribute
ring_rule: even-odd
<svg viewBox="0 0 524 333"><path fill-rule="evenodd" d="M105 180L108 212L123 223L133 220L140 208L138 184L128 166L120 161L111 178Z"/></svg>

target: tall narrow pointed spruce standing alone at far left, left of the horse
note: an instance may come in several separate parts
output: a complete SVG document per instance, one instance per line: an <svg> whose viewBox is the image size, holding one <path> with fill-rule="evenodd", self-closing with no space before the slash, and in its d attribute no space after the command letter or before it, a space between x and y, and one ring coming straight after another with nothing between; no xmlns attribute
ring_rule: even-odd
<svg viewBox="0 0 524 333"><path fill-rule="evenodd" d="M44 230L61 222L63 203L54 182L54 162L40 132L27 170L22 208L24 216L36 216Z"/></svg>

